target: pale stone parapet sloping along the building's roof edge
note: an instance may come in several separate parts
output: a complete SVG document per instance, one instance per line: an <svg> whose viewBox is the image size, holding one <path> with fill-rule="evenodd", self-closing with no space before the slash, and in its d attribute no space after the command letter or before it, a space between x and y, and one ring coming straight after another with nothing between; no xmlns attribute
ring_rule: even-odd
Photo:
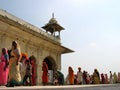
<svg viewBox="0 0 120 90"><path fill-rule="evenodd" d="M50 40L52 40L52 41L54 41L56 43L60 43L59 38L46 33L44 31L44 29L42 29L42 28L38 28L38 27L36 27L36 26L34 26L34 25L32 25L32 24L30 24L30 23L28 23L28 22L26 22L26 21L24 21L24 20L22 20L22 19L20 19L18 17L15 17L14 15L8 13L5 10L0 9L0 17L2 17L2 19L7 19L9 21L7 23L10 23L10 24L11 23L16 23L16 25L18 24L19 27L27 28L27 31L32 30L34 32L37 32L41 36L46 37L47 39L50 39Z"/></svg>

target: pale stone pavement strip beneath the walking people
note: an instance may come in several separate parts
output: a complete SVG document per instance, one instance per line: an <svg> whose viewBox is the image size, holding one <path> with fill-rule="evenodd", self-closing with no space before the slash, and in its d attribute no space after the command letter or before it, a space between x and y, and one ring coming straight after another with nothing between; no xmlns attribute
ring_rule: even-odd
<svg viewBox="0 0 120 90"><path fill-rule="evenodd" d="M120 84L104 84L104 85L65 85L65 86L20 86L20 87L4 87L0 86L0 90L120 90Z"/></svg>

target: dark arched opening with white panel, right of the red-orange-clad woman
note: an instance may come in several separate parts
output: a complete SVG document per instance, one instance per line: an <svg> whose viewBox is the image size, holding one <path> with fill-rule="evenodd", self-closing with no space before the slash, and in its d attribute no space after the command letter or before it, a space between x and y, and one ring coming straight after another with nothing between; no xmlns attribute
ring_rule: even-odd
<svg viewBox="0 0 120 90"><path fill-rule="evenodd" d="M43 60L43 62L46 62L47 66L48 66L48 83L53 84L53 76L54 76L54 73L57 71L56 62L50 56L46 57Z"/></svg>

